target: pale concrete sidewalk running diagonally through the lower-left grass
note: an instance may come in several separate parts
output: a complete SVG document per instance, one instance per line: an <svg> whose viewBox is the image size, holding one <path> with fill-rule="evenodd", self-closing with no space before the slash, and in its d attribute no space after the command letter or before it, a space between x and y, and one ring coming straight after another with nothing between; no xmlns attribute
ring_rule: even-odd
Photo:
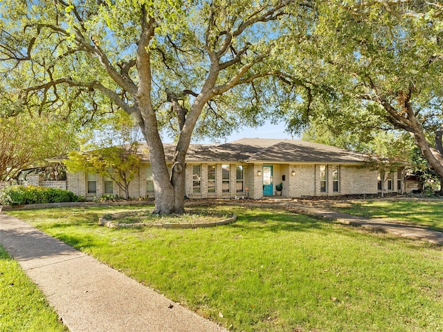
<svg viewBox="0 0 443 332"><path fill-rule="evenodd" d="M227 331L1 212L0 244L42 289L71 332Z"/></svg>

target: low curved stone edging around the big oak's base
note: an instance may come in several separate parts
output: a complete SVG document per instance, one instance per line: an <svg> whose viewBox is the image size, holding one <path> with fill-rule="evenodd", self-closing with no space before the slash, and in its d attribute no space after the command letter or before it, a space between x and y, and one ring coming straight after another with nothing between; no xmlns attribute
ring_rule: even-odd
<svg viewBox="0 0 443 332"><path fill-rule="evenodd" d="M137 212L140 212L138 210ZM141 227L154 227L154 228L178 228L178 229L187 229L187 228L208 228L215 227L221 225L228 225L237 220L237 215L233 214L230 218L223 219L220 221L211 221L208 223L118 223L113 221L113 219L117 219L118 216L122 214L130 215L131 212L117 212L113 214L105 214L100 216L98 219L98 225L105 225L108 228L141 228Z"/></svg>

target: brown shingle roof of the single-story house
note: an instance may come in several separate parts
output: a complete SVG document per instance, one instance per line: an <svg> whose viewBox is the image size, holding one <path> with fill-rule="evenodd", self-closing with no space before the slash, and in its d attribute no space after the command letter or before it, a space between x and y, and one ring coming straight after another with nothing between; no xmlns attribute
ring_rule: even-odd
<svg viewBox="0 0 443 332"><path fill-rule="evenodd" d="M165 144L166 160L172 161L175 145ZM143 153L144 152L144 153ZM146 145L138 153L149 160ZM242 138L221 145L190 145L188 162L363 163L365 155L304 140Z"/></svg>

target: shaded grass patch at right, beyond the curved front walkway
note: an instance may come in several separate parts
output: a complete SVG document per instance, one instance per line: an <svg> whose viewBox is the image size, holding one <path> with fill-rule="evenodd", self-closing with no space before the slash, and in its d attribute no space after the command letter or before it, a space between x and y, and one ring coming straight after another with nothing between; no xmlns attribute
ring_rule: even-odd
<svg viewBox="0 0 443 332"><path fill-rule="evenodd" d="M416 199L381 199L374 201L350 201L331 206L356 216L403 221L430 230L443 232L443 200L419 201Z"/></svg>

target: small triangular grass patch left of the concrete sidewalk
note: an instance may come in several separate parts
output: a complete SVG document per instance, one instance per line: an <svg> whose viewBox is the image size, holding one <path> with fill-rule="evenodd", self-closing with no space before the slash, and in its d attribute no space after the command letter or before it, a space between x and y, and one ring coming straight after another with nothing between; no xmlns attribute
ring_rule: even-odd
<svg viewBox="0 0 443 332"><path fill-rule="evenodd" d="M42 292L1 246L0 331L68 331Z"/></svg>

